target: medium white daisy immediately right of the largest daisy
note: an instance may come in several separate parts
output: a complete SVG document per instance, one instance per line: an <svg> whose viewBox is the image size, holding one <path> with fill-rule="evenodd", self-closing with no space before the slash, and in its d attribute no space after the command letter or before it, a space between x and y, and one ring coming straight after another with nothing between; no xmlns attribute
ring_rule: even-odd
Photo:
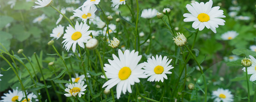
<svg viewBox="0 0 256 102"><path fill-rule="evenodd" d="M144 74L146 74L147 77L149 77L148 81L159 82L161 80L161 82L164 82L164 78L167 79L166 74L172 74L172 72L169 71L170 69L174 68L172 67L172 65L169 65L172 59L169 61L168 59L169 58L167 58L167 56L164 56L164 58L162 59L161 55L159 57L158 55L156 55L156 58L152 56L152 59L148 58L148 61L144 62Z"/></svg>

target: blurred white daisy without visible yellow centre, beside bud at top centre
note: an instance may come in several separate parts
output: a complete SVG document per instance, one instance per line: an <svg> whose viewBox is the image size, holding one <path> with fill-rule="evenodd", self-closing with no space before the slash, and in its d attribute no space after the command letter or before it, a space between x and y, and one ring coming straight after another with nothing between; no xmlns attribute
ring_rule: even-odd
<svg viewBox="0 0 256 102"><path fill-rule="evenodd" d="M150 19L156 17L157 10L156 9L144 9L141 13L142 18Z"/></svg>

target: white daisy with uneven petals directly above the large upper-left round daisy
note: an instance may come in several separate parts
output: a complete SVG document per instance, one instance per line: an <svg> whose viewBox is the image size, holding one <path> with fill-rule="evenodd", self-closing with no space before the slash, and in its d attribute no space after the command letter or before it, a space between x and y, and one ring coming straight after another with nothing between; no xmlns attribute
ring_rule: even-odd
<svg viewBox="0 0 256 102"><path fill-rule="evenodd" d="M82 7L82 11L80 9L74 10L74 17L79 17L78 19L82 19L84 22L86 22L87 19L93 20L93 18L95 18L96 11L97 8L95 5Z"/></svg>

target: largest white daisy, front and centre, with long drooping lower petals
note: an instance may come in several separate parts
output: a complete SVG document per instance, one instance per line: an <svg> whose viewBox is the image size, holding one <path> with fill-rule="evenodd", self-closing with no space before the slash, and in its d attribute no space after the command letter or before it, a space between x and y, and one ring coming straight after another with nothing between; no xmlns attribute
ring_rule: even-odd
<svg viewBox="0 0 256 102"><path fill-rule="evenodd" d="M119 49L118 56L119 58L113 55L114 60L108 59L109 64L105 64L104 70L106 71L106 76L109 80L103 84L103 87L106 87L106 90L111 89L116 84L116 97L120 98L121 92L125 94L126 91L132 93L131 85L134 83L139 83L139 78L147 78L145 74L143 74L143 69L141 69L145 64L139 63L141 59L141 55L138 55L139 52L132 50L125 50L124 54ZM101 76L105 78L104 76Z"/></svg>

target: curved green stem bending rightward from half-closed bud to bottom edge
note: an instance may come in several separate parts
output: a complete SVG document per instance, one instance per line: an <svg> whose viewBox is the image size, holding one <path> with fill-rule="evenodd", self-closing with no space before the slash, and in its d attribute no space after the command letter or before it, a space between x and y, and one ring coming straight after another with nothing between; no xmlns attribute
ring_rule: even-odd
<svg viewBox="0 0 256 102"><path fill-rule="evenodd" d="M202 74L202 77L203 77L203 80L204 80L204 92L205 92L205 94L204 94L204 102L206 102L207 101L207 84L206 84L206 80L205 80L205 77L204 77L204 72L203 72L203 70L202 70L202 68L201 68L201 65L198 63L198 61L196 60L196 57L193 55L193 53L191 52L191 50L188 48L188 46L187 45L185 45L185 47L188 49L188 51L189 51L189 53L190 53L190 55L194 58L194 60L196 61L196 64L198 65L198 67L199 67L199 69L200 69L200 71L201 71L201 74Z"/></svg>

